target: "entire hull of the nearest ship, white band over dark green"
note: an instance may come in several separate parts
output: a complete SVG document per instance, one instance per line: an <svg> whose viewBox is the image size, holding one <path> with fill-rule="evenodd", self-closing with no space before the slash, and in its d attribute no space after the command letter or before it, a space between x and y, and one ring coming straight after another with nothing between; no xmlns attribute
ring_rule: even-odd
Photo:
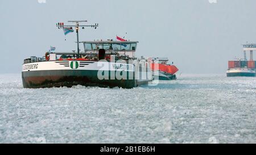
<svg viewBox="0 0 256 155"><path fill-rule="evenodd" d="M82 85L130 89L151 81L150 73L140 79L137 77L143 73L137 71L133 64L116 62L44 61L23 64L22 81L24 88Z"/></svg>

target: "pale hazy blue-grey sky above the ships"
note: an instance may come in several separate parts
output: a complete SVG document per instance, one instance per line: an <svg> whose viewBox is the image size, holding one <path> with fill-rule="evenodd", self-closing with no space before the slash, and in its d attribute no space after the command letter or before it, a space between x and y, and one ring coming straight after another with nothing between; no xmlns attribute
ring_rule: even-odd
<svg viewBox="0 0 256 155"><path fill-rule="evenodd" d="M139 41L137 57L168 57L180 73L225 73L228 60L243 57L241 44L256 42L255 0L1 0L0 73L20 73L24 58L42 57L51 45L76 50L75 33L55 27L68 20L100 24L80 31L80 41L127 32Z"/></svg>

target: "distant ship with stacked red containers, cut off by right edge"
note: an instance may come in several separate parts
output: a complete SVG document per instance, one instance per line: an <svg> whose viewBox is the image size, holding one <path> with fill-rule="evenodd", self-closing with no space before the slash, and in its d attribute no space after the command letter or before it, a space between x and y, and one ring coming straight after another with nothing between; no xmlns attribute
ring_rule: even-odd
<svg viewBox="0 0 256 155"><path fill-rule="evenodd" d="M246 52L250 51L250 60L247 60ZM228 62L228 70L226 72L227 77L255 77L256 76L256 61L253 60L253 52L256 51L256 44L244 44L243 55L244 58L240 58L236 61Z"/></svg>

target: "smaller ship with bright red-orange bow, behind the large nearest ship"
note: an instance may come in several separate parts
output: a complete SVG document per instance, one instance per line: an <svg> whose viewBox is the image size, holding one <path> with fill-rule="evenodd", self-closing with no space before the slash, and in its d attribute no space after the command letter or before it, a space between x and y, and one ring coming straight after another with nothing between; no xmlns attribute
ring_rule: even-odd
<svg viewBox="0 0 256 155"><path fill-rule="evenodd" d="M175 65L168 64L168 58L148 58L152 76L159 80L174 80L177 79L175 73L179 71Z"/></svg>

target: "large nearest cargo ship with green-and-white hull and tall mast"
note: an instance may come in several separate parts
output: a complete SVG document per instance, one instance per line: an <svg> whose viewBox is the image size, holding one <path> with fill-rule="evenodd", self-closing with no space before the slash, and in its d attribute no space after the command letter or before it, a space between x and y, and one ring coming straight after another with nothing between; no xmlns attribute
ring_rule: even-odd
<svg viewBox="0 0 256 155"><path fill-rule="evenodd" d="M79 28L97 27L65 26L57 23L59 29L77 33L77 52L46 52L43 57L32 56L24 60L22 82L24 88L99 86L131 89L152 81L151 69L144 59L135 57L138 41L81 41ZM67 30L67 31L66 31ZM66 33L65 33L66 34ZM79 44L84 45L80 51Z"/></svg>

